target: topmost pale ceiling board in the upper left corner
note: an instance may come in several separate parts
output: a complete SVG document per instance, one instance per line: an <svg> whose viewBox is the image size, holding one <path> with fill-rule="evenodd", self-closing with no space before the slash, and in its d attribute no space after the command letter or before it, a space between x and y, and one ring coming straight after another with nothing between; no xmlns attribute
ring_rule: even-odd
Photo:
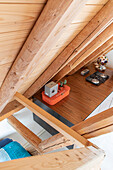
<svg viewBox="0 0 113 170"><path fill-rule="evenodd" d="M31 29L45 4L0 4L0 33Z"/></svg>

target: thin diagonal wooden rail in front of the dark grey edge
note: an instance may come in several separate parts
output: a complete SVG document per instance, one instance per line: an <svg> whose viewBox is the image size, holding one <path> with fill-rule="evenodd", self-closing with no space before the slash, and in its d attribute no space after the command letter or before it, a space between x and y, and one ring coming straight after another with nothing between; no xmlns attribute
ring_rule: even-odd
<svg viewBox="0 0 113 170"><path fill-rule="evenodd" d="M66 138L73 141L76 145L83 147L92 145L88 140L84 137L76 133L74 130L66 126L64 123L56 119L54 116L50 115L48 112L37 106L35 103L31 102L29 99L21 95L20 93L16 93L14 98L20 102L22 105L27 107L37 116L39 116L42 120L48 123L50 126L55 128L57 131L62 133Z"/></svg>

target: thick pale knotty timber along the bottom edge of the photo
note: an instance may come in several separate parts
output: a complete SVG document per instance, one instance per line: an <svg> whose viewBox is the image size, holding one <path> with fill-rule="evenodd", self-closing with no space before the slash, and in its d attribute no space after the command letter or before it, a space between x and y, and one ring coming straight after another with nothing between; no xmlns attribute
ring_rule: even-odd
<svg viewBox="0 0 113 170"><path fill-rule="evenodd" d="M47 155L38 155L28 158L0 163L0 169L58 169L58 170L83 170L100 169L105 153L93 147L78 148Z"/></svg>

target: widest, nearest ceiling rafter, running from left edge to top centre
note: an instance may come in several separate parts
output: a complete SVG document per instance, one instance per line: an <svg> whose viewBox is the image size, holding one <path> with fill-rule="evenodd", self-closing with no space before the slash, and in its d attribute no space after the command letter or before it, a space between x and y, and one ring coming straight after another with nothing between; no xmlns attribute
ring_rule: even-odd
<svg viewBox="0 0 113 170"><path fill-rule="evenodd" d="M13 63L0 89L0 112L12 99L24 80L38 66L41 57L54 45L67 26L77 16L85 0L48 0ZM72 12L76 11L76 13ZM32 96L32 95L31 95Z"/></svg>

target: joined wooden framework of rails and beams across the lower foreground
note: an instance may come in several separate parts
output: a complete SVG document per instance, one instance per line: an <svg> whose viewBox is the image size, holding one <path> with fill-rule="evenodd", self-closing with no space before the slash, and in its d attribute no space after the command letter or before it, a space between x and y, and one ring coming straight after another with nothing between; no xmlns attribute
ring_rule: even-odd
<svg viewBox="0 0 113 170"><path fill-rule="evenodd" d="M19 122L14 116L10 116L8 118L9 123L39 154L41 154L41 156L32 156L30 158L0 163L0 168L7 169L8 167L11 169L12 166L14 168L20 166L23 168L32 167L37 169L44 169L46 166L50 169L54 169L55 167L57 169L100 168L105 153L87 139L109 133L113 130L113 108L69 128L22 94L17 92L14 98L59 131L59 134L41 141L39 137ZM44 155L45 152L72 144L79 148Z"/></svg>

